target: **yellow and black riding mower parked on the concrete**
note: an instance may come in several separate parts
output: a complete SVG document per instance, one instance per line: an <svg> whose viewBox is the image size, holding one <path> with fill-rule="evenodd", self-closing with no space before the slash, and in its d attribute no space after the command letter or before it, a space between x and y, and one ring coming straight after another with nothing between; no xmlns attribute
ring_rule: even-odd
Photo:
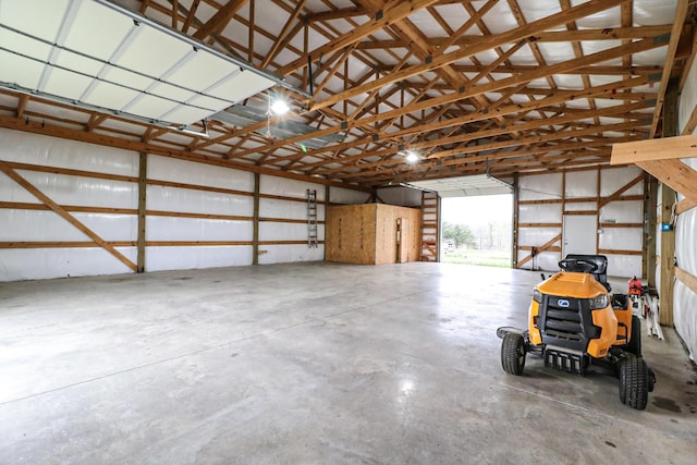
<svg viewBox="0 0 697 465"><path fill-rule="evenodd" d="M641 323L626 294L610 294L608 258L567 255L561 271L533 291L527 331L499 328L501 365L522 375L525 355L545 366L585 375L596 371L620 379L620 401L644 409L656 376L641 357Z"/></svg>

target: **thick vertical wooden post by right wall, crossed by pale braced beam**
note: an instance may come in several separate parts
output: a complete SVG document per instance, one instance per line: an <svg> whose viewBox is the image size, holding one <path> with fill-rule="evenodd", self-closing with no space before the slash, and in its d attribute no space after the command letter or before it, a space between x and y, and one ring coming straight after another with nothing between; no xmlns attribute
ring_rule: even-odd
<svg viewBox="0 0 697 465"><path fill-rule="evenodd" d="M663 137L677 135L677 87L678 79L668 82L663 101ZM670 231L661 228L661 289L659 295L659 322L673 326L673 280L675 277L675 231L672 229L675 191L663 184L661 193L661 224L670 224Z"/></svg>

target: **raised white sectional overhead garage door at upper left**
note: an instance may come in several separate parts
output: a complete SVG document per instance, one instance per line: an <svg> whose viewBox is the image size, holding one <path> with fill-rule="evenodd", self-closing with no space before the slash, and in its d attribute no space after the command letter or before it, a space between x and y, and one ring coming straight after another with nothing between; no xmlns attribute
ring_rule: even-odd
<svg viewBox="0 0 697 465"><path fill-rule="evenodd" d="M0 87L163 125L290 87L107 0L0 1Z"/></svg>

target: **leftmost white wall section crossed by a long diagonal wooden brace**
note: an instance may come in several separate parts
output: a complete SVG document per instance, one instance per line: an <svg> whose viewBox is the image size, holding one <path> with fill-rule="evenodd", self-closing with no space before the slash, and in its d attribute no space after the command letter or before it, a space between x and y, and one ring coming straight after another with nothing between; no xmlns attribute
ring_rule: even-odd
<svg viewBox="0 0 697 465"><path fill-rule="evenodd" d="M132 151L10 130L0 130L0 160L103 174L138 175L138 155ZM137 183L21 169L16 172L62 206L137 209ZM41 205L4 173L0 173L0 203ZM29 208L0 208L0 242L90 241L53 211ZM135 215L74 212L73 216L107 241L135 241ZM132 261L136 259L136 247L117 249ZM125 265L99 247L0 248L0 281L129 271Z"/></svg>

